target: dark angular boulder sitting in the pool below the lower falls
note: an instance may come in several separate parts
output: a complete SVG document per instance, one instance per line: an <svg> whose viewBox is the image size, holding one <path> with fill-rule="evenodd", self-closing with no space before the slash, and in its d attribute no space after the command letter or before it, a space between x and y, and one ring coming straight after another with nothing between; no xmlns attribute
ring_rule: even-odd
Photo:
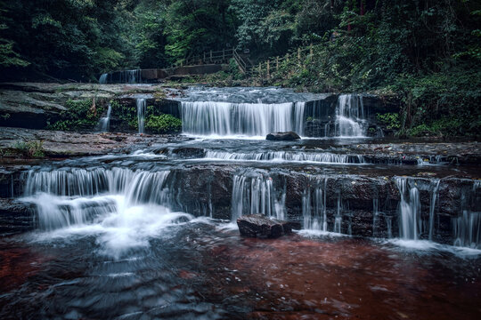
<svg viewBox="0 0 481 320"><path fill-rule="evenodd" d="M270 219L262 214L243 215L237 220L241 236L275 238L289 235L292 225L289 221Z"/></svg>

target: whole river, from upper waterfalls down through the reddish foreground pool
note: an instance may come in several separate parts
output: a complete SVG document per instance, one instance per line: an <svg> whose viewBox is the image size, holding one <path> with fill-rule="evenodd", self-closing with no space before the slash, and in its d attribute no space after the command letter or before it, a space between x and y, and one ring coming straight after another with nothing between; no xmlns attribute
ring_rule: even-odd
<svg viewBox="0 0 481 320"><path fill-rule="evenodd" d="M261 139L303 135L313 99L195 88L191 140L21 172L36 227L0 238L1 318L477 319L478 167L361 151L387 140L356 95L322 137ZM246 213L303 228L244 238Z"/></svg>

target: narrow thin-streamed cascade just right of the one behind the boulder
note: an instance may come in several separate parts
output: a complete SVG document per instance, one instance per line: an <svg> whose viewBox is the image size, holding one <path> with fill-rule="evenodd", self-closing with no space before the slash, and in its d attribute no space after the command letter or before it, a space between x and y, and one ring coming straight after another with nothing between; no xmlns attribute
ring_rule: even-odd
<svg viewBox="0 0 481 320"><path fill-rule="evenodd" d="M329 178L311 178L302 198L304 228L328 231L326 188Z"/></svg>

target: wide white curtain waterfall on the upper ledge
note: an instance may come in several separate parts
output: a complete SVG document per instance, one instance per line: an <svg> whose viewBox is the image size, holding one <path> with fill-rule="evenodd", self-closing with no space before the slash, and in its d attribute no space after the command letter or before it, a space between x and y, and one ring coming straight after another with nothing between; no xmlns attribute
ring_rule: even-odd
<svg viewBox="0 0 481 320"><path fill-rule="evenodd" d="M182 102L183 132L195 135L265 136L270 132L304 133L305 102Z"/></svg>

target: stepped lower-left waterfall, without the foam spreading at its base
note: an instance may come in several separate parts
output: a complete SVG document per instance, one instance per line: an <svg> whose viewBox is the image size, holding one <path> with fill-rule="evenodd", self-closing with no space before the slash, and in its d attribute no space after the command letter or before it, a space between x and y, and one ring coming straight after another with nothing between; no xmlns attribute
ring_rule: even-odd
<svg viewBox="0 0 481 320"><path fill-rule="evenodd" d="M37 204L39 228L53 230L141 204L174 207L169 173L118 168L30 171L24 199Z"/></svg>

